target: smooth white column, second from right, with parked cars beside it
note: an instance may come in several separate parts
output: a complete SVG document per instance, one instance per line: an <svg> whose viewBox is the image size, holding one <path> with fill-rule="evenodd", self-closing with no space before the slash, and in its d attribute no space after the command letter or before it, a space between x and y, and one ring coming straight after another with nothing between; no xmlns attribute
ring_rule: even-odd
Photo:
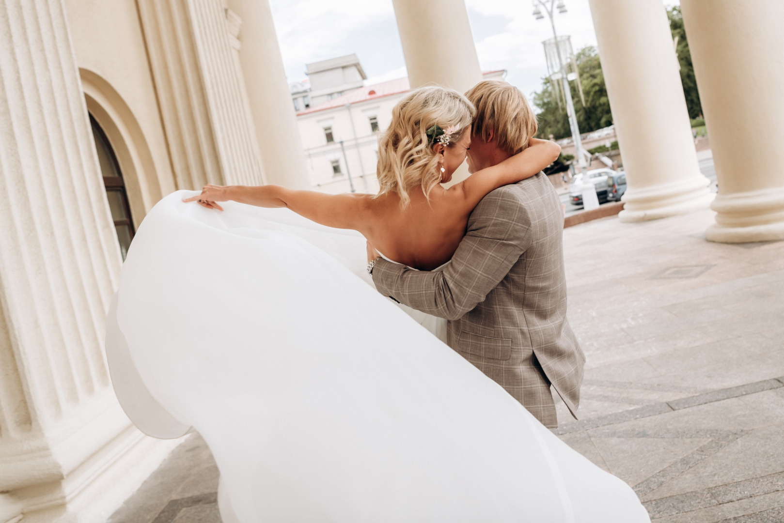
<svg viewBox="0 0 784 523"><path fill-rule="evenodd" d="M661 0L590 0L604 82L626 170L622 221L704 209L670 24Z"/></svg>

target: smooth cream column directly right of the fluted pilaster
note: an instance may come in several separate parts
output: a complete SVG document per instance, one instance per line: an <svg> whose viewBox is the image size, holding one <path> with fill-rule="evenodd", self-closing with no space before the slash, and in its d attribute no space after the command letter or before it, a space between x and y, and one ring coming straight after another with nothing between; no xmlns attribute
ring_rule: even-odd
<svg viewBox="0 0 784 523"><path fill-rule="evenodd" d="M241 20L240 65L267 183L310 187L268 0L228 0Z"/></svg>

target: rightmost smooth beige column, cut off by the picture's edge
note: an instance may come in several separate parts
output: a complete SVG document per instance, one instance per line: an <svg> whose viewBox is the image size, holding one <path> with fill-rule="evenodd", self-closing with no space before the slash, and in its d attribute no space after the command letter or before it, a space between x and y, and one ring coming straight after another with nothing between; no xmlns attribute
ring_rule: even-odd
<svg viewBox="0 0 784 523"><path fill-rule="evenodd" d="M681 2L719 194L713 242L784 239L784 3Z"/></svg>

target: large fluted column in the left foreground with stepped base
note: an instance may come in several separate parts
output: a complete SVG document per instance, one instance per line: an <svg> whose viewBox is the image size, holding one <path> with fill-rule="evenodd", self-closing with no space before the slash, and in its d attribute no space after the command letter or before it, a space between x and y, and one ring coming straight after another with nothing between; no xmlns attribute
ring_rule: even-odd
<svg viewBox="0 0 784 523"><path fill-rule="evenodd" d="M0 2L0 201L0 517L103 521L172 444L111 389L122 261L57 0Z"/></svg>

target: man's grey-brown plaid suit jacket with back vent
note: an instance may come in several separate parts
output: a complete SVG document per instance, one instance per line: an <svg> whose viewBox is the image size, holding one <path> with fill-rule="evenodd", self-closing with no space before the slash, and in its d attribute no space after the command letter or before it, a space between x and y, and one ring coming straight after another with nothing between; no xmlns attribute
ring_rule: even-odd
<svg viewBox="0 0 784 523"><path fill-rule="evenodd" d="M373 268L379 292L447 318L449 347L546 427L558 425L550 384L575 416L585 365L566 319L563 228L561 202L539 173L479 202L444 271L383 259Z"/></svg>

